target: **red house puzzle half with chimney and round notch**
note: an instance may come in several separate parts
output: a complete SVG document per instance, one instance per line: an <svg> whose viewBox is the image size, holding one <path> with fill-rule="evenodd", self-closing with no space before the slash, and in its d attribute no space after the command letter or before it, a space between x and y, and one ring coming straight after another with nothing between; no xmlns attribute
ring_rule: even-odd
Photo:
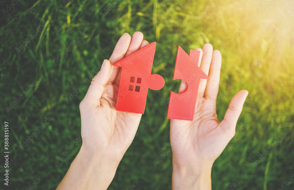
<svg viewBox="0 0 294 190"><path fill-rule="evenodd" d="M210 79L199 67L200 51L190 50L189 55L178 46L173 80L183 79L187 89L179 94L171 91L167 118L192 121L198 94L200 79Z"/></svg>

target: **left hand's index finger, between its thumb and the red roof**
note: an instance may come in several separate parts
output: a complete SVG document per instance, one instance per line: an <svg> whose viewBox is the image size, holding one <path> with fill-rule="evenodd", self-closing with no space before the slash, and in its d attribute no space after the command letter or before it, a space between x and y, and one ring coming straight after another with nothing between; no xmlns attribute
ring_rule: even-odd
<svg viewBox="0 0 294 190"><path fill-rule="evenodd" d="M130 41L131 41L130 34L125 33L121 36L121 38L116 43L113 53L109 58L109 62L111 63L111 76L107 84L112 84L113 81L115 80L120 67L112 66L112 65L116 63L117 61L120 61L121 59L123 59L130 45Z"/></svg>

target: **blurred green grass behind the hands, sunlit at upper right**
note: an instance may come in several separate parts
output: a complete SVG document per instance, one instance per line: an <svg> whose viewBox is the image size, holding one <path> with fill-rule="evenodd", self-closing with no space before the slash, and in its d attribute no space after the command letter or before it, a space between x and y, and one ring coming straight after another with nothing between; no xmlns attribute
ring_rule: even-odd
<svg viewBox="0 0 294 190"><path fill-rule="evenodd" d="M1 10L10 3L0 1ZM177 91L180 84L180 80L172 80L177 46L188 52L205 43L220 49L223 56L218 119L223 119L237 91L249 91L236 135L213 164L212 189L228 189L231 183L238 184L236 189L244 190L281 188L294 172L294 81L279 88L294 74L294 9L290 0L268 0L267 3L253 0L21 0L5 16L1 11L0 139L3 152L4 121L7 121L11 151L10 185L4 188L25 189L40 176L42 181L34 189L56 189L81 146L81 142L76 145L73 141L81 131L79 103L88 89L84 80L93 71L100 70L103 59L110 57L123 33L132 35L135 31L143 32L144 39L150 43L157 42L152 73L162 75L165 86L158 91L148 91L140 125L144 120L150 124L133 140L108 189L126 189L137 179L141 183L135 189L171 189L171 153L156 166L153 160L171 147L166 102L170 91ZM111 10L102 18L101 13L107 8ZM17 53L15 48L19 48L24 38L34 35L33 30L43 20L47 21L44 29ZM243 27L241 31L239 26ZM71 46L80 32L86 34L85 38L75 47ZM281 41L275 48L268 49L276 38ZM53 60L67 47L71 51L54 66ZM164 58L158 59L166 51ZM262 60L254 64L262 55ZM34 87L30 86L33 80L39 81ZM67 103L66 98L81 85L81 92ZM227 93L230 85L233 91ZM23 91L27 87L33 88ZM278 95L271 99L275 92ZM5 108L19 95L24 98L7 113ZM35 128L46 117L52 121L20 150L22 141L37 132ZM279 135L285 139L272 149ZM56 158L70 145L75 148L57 164ZM265 151L270 155L252 168L255 159ZM3 156L1 164L4 166ZM3 177L4 168L0 169ZM3 183L1 179L1 186ZM287 189L293 189L293 184L291 181Z"/></svg>

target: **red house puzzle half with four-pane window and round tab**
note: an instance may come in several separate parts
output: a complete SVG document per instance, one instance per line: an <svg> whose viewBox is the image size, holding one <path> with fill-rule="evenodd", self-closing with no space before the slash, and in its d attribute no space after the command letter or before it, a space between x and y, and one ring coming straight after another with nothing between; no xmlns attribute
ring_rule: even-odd
<svg viewBox="0 0 294 190"><path fill-rule="evenodd" d="M144 114L148 88L159 90L164 86L162 76L151 74L155 47L156 42L153 42L113 64L122 67L117 111Z"/></svg>

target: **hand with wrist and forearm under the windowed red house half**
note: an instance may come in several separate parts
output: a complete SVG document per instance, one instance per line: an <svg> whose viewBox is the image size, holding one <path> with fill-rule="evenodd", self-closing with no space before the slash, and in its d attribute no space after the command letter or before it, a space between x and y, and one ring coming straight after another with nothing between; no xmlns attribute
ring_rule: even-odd
<svg viewBox="0 0 294 190"><path fill-rule="evenodd" d="M141 32L123 34L103 61L80 103L81 149L57 189L108 188L142 116L115 110L121 69L113 64L148 44Z"/></svg>

